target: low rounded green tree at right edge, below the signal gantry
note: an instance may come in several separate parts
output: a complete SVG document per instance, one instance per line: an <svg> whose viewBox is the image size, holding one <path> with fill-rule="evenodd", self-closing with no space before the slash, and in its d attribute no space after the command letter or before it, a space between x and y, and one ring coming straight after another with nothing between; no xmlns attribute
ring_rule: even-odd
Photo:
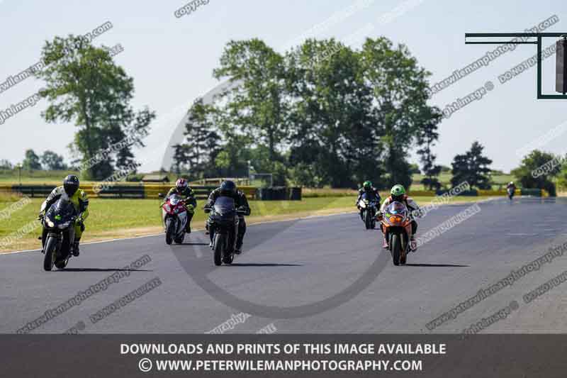
<svg viewBox="0 0 567 378"><path fill-rule="evenodd" d="M556 177L561 172L561 164L553 164L553 162L561 162L561 157L557 155L533 150L522 159L522 164L510 172L520 180L520 184L524 188L545 189L550 196L556 195L556 188L552 177ZM549 169L539 169L549 164ZM559 179L563 175L559 175ZM561 182L561 181L560 181Z"/></svg>

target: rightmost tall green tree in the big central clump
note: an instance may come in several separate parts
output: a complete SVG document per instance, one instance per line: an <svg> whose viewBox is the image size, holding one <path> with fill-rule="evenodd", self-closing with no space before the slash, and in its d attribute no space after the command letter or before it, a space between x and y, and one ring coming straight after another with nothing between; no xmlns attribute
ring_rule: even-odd
<svg viewBox="0 0 567 378"><path fill-rule="evenodd" d="M376 133L381 136L388 186L409 187L412 178L406 157L422 125L437 115L427 105L427 77L405 45L388 38L367 38L361 55L364 80L372 89Z"/></svg>

